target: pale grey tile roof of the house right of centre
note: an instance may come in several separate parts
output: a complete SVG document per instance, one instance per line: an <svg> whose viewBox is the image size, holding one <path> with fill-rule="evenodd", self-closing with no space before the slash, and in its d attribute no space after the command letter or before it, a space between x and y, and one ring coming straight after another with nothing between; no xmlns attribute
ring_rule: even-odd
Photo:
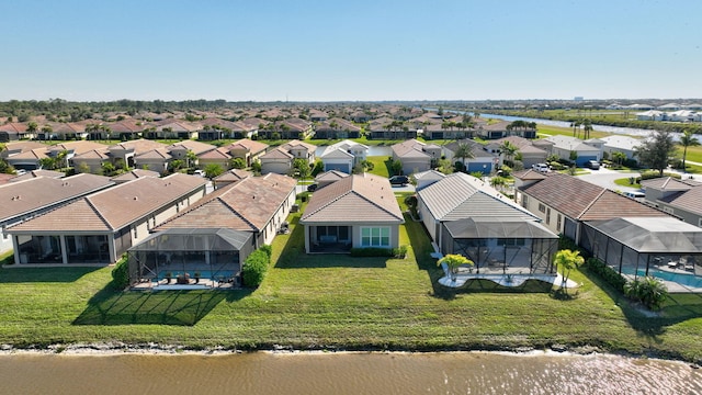
<svg viewBox="0 0 702 395"><path fill-rule="evenodd" d="M417 194L431 215L441 221L484 216L537 219L492 187L466 173L449 174Z"/></svg>

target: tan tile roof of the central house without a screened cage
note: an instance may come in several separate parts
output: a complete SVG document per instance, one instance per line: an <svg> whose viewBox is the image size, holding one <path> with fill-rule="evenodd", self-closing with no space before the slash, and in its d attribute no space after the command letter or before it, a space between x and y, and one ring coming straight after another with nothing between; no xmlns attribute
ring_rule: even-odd
<svg viewBox="0 0 702 395"><path fill-rule="evenodd" d="M386 178L354 174L313 194L301 223L404 223Z"/></svg>

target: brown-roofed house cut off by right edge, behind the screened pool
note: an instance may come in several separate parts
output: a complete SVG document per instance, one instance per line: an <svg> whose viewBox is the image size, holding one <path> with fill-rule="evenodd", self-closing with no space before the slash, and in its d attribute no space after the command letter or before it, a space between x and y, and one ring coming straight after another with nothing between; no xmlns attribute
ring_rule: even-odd
<svg viewBox="0 0 702 395"><path fill-rule="evenodd" d="M702 227L702 182L663 177L641 182L646 202L688 224Z"/></svg>

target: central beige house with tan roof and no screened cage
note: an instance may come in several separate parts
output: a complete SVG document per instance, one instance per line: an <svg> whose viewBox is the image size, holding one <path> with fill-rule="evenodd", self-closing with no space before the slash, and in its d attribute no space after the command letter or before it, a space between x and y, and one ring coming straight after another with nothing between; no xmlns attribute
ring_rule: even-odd
<svg viewBox="0 0 702 395"><path fill-rule="evenodd" d="M349 176L317 190L299 219L307 253L397 248L403 223L389 181L369 173Z"/></svg>

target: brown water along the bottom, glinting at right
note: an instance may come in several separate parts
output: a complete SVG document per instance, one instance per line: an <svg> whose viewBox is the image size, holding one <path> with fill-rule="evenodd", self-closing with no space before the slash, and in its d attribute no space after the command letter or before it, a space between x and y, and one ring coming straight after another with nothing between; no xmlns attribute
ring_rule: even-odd
<svg viewBox="0 0 702 395"><path fill-rule="evenodd" d="M614 356L0 356L4 394L699 394L702 372Z"/></svg>

